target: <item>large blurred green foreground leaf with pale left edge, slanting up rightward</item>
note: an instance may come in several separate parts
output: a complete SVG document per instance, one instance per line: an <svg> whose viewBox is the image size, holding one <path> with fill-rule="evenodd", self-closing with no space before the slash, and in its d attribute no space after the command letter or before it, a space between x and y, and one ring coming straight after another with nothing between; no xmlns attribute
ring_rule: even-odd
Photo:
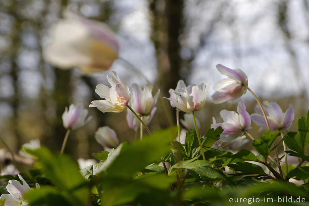
<svg viewBox="0 0 309 206"><path fill-rule="evenodd" d="M170 151L171 140L177 135L176 127L158 130L152 136L145 136L142 141L125 143L111 150L109 157L96 170L107 173L109 177L132 177L132 175L143 170Z"/></svg>

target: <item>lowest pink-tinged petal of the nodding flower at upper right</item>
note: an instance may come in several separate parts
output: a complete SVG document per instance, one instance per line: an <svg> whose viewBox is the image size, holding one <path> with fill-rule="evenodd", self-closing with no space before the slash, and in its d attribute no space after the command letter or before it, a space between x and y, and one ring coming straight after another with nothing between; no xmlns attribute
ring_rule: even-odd
<svg viewBox="0 0 309 206"><path fill-rule="evenodd" d="M246 93L247 89L242 87L241 84L230 84L219 91L214 92L211 96L215 104L221 104L227 100L235 101Z"/></svg>

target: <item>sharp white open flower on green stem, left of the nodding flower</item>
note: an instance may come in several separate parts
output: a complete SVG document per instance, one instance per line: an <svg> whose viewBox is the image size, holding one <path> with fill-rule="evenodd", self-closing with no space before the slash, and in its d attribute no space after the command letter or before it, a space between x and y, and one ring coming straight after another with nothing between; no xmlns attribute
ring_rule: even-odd
<svg viewBox="0 0 309 206"><path fill-rule="evenodd" d="M183 112L191 113L202 109L205 104L205 100L208 94L209 85L200 83L198 86L190 84L186 88L178 89L174 91L176 99L166 98L172 102L174 106Z"/></svg>

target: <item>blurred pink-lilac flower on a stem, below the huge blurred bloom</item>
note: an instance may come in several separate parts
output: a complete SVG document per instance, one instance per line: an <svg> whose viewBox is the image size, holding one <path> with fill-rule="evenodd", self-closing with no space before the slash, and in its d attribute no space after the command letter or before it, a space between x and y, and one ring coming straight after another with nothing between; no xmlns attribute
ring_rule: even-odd
<svg viewBox="0 0 309 206"><path fill-rule="evenodd" d="M88 110L84 109L82 104L76 106L72 104L69 110L66 107L66 111L62 114L63 126L72 130L83 127L91 119L91 116L89 116L85 121L87 114Z"/></svg>

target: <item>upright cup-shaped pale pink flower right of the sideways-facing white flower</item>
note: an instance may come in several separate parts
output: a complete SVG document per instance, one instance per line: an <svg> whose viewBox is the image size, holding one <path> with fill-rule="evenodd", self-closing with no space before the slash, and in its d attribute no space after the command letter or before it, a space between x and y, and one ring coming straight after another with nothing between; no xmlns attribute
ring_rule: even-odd
<svg viewBox="0 0 309 206"><path fill-rule="evenodd" d="M155 107L157 103L158 97L160 95L160 89L152 97L152 84L146 84L144 89L142 90L138 84L132 84L133 94L131 107L139 116L149 116L152 109Z"/></svg>

